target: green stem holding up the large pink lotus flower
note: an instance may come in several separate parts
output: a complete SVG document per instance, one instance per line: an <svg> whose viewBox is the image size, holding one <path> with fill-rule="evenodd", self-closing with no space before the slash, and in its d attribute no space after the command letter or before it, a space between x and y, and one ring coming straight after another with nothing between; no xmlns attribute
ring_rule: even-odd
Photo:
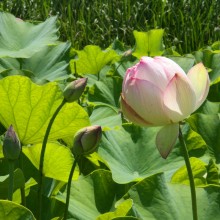
<svg viewBox="0 0 220 220"><path fill-rule="evenodd" d="M183 149L183 156L189 176L189 182L190 182L190 190L191 190L191 199L192 199L192 212L193 212L193 220L198 220L198 214L197 214L197 202L196 202L196 188L195 188L195 182L194 182L194 177L192 173L192 168L190 165L190 160L189 160L189 154L186 148L186 143L183 138L183 134L181 131L181 128L179 126L179 141Z"/></svg>

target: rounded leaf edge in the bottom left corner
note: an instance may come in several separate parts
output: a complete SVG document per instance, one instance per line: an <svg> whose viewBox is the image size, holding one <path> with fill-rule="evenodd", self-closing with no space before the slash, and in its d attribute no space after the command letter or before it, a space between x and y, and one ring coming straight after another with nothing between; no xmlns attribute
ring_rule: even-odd
<svg viewBox="0 0 220 220"><path fill-rule="evenodd" d="M0 200L0 219L35 220L34 215L29 209L7 200Z"/></svg>

